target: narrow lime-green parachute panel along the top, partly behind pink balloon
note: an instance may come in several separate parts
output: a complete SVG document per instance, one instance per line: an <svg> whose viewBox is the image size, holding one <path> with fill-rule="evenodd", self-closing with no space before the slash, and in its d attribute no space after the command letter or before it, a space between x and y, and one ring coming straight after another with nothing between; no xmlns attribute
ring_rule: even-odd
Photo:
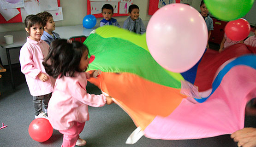
<svg viewBox="0 0 256 147"><path fill-rule="evenodd" d="M113 25L105 25L105 26L99 27L95 29L95 33L99 34L101 37L104 37L104 38L116 37L123 40L127 40L135 45L142 47L146 51L149 51L147 41L146 41L146 33L142 35L136 34L126 29L118 28ZM178 81L180 81L180 79L184 79L182 75L179 73L173 73L168 70L166 70L166 72Z"/></svg>

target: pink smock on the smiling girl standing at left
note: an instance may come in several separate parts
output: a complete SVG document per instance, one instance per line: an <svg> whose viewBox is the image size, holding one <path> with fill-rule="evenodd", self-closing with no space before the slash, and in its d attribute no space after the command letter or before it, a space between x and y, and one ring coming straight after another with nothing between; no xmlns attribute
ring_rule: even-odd
<svg viewBox="0 0 256 147"><path fill-rule="evenodd" d="M39 73L45 73L42 65L43 58L48 55L49 45L43 41L31 40L27 37L27 42L20 49L19 62L21 72L25 74L30 94L32 96L43 96L53 92L51 79L42 82L37 78Z"/></svg>

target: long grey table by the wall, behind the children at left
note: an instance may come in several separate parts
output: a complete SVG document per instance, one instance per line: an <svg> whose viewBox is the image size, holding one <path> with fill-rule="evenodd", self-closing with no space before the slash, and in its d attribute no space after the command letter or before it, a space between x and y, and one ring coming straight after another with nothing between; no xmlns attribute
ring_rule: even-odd
<svg viewBox="0 0 256 147"><path fill-rule="evenodd" d="M54 32L60 34L60 38L68 39L69 37L72 37L72 36L81 36L81 35L85 35L86 37L88 37L90 32L95 29L96 28L89 28L89 29L83 28L83 25L75 25L75 26L56 27ZM4 35L13 35L13 43L6 44ZM11 31L11 32L0 32L0 45L2 48L4 48L6 50L6 55L7 55L7 60L8 60L8 66L9 66L10 73L11 73L11 81L12 81L13 89L15 88L15 85L14 85L14 80L13 80L13 75L12 75L12 63L11 63L11 57L10 57L9 50L18 49L18 48L20 49L26 42L27 36L28 36L28 33L26 33L25 30Z"/></svg>

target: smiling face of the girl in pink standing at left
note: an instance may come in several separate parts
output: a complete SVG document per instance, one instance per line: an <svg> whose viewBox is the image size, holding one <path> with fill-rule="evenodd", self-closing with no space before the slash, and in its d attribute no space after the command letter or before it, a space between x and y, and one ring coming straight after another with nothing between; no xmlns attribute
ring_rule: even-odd
<svg viewBox="0 0 256 147"><path fill-rule="evenodd" d="M36 24L30 27L30 30L28 28L25 28L25 29L30 34L31 40L39 41L43 34L42 24Z"/></svg>

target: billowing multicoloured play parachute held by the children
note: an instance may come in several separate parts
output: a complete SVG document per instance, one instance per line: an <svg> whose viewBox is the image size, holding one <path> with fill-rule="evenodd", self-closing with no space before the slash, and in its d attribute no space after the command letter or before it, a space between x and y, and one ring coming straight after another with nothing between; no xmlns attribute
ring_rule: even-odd
<svg viewBox="0 0 256 147"><path fill-rule="evenodd" d="M145 34L104 26L84 44L95 55L88 70L102 71L89 82L114 97L137 126L126 143L143 135L166 140L213 137L244 127L245 105L256 97L255 50L244 44L222 53L207 50L200 63L181 74L155 62Z"/></svg>

